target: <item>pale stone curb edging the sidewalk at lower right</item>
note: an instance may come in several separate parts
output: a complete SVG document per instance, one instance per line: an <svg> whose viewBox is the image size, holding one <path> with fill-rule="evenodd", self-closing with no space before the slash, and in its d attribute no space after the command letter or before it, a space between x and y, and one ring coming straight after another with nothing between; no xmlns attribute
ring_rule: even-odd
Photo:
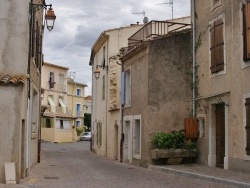
<svg viewBox="0 0 250 188"><path fill-rule="evenodd" d="M197 173L192 173L192 172L187 172L187 171L175 170L172 168L155 166L155 165L149 165L148 168L151 170L162 171L162 172L167 172L167 173L174 173L174 174L178 174L181 176L202 179L202 180L211 181L211 182L215 182L215 183L221 183L224 185L232 185L232 186L237 186L237 187L242 187L242 188L250 188L250 184L246 183L246 182L223 179L223 178L218 178L218 177L214 177L214 176L208 176L208 175L202 175L202 174L197 174Z"/></svg>

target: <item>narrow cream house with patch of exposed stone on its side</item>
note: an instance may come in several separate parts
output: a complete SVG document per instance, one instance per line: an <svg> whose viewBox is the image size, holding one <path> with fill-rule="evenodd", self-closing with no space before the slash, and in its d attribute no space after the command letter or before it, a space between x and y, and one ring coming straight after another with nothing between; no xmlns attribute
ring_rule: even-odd
<svg viewBox="0 0 250 188"><path fill-rule="evenodd" d="M119 50L128 45L128 37L142 25L106 30L92 47L92 149L111 159L119 159L121 139ZM118 63L118 64L117 64ZM94 71L99 66L100 78Z"/></svg>

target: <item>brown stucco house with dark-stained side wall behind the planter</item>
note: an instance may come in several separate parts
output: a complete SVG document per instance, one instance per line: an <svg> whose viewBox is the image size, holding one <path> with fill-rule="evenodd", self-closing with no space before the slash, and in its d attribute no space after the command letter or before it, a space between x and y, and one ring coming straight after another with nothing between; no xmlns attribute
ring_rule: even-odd
<svg viewBox="0 0 250 188"><path fill-rule="evenodd" d="M124 162L147 167L152 135L184 129L184 118L192 114L191 44L188 29L146 40L121 58Z"/></svg>

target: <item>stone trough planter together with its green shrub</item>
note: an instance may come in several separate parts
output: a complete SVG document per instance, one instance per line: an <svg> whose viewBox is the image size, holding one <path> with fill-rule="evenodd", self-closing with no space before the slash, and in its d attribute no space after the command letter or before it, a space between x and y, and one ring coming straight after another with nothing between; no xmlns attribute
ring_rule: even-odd
<svg viewBox="0 0 250 188"><path fill-rule="evenodd" d="M197 156L195 142L187 140L183 131L157 132L153 135L151 142L153 160L164 159L167 164L180 164L183 159L190 161L187 159L194 159Z"/></svg>

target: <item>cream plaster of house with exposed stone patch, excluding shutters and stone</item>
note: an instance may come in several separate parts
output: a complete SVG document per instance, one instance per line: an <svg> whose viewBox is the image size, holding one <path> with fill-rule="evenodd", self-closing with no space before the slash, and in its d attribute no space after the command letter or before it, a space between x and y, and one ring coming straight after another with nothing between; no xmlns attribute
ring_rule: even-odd
<svg viewBox="0 0 250 188"><path fill-rule="evenodd" d="M133 27L124 27L120 29L114 29L107 31L105 34L109 35L109 38L101 44L101 48L96 52L94 57L94 64L92 65L92 71L95 71L96 65L102 64L103 59L103 47L106 49L106 65L109 65L109 58L116 56L119 53L119 49L128 46L128 38L138 31L142 25ZM120 68L120 65L115 65ZM120 140L120 128L115 131L115 126L120 127L120 111L109 112L110 96L109 96L109 80L110 72L100 69L100 78L96 80L92 78L92 132L94 134L93 138L93 150L103 156L114 159L116 157L116 144L114 144L115 132L118 132L118 140ZM93 73L92 72L92 73ZM93 73L94 75L94 73ZM102 100L102 78L105 76L105 100ZM120 71L117 71L117 87L120 88ZM119 93L119 91L117 91ZM119 100L119 96L117 96ZM97 123L102 124L102 145L97 146L96 144L96 128Z"/></svg>

